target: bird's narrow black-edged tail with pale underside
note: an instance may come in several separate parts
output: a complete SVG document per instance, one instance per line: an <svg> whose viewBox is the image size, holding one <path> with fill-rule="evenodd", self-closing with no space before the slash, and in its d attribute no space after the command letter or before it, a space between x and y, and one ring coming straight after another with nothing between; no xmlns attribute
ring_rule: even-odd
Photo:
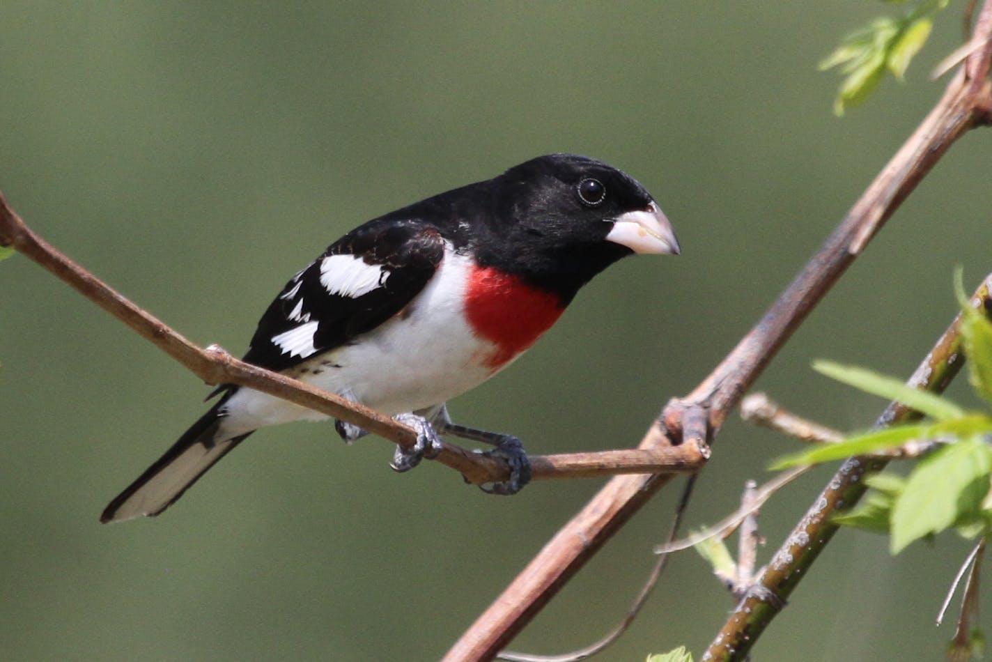
<svg viewBox="0 0 992 662"><path fill-rule="evenodd" d="M183 496L206 469L250 435L248 432L232 439L215 439L220 427L217 411L223 403L221 400L203 414L166 455L118 494L103 510L100 521L122 522L140 515L158 515Z"/></svg>

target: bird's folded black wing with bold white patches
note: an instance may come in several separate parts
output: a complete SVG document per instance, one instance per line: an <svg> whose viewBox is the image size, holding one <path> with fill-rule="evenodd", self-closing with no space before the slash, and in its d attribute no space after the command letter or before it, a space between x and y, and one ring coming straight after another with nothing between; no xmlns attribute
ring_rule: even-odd
<svg viewBox="0 0 992 662"><path fill-rule="evenodd" d="M438 230L418 220L355 228L286 284L244 360L285 370L375 329L424 289L443 256Z"/></svg>

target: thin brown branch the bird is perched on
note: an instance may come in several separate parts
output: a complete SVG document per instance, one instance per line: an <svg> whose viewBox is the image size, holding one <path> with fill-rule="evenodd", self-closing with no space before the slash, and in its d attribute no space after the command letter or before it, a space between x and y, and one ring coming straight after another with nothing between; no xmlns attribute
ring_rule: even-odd
<svg viewBox="0 0 992 662"><path fill-rule="evenodd" d="M8 205L2 193L0 246L9 246L27 255L182 363L207 384L247 386L346 421L399 446L410 448L417 443L417 432L413 428L397 423L384 414L278 372L245 363L217 345L203 349L190 342L35 234ZM702 445L535 456L530 459L531 477L573 478L653 471L683 473L697 470L708 457L708 449ZM510 476L510 468L505 461L473 453L446 442L442 442L442 450L436 461L458 470L465 481L470 483L500 482Z"/></svg>

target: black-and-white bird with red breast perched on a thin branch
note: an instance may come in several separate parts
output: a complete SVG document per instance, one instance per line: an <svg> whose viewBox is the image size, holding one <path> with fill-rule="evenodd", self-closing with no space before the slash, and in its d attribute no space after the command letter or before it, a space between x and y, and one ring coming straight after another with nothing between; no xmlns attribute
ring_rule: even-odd
<svg viewBox="0 0 992 662"><path fill-rule="evenodd" d="M610 264L680 252L632 177L589 157L541 156L346 233L285 285L244 360L411 425L417 445L398 448L396 470L434 457L440 435L491 444L512 471L485 489L512 494L530 478L520 440L453 423L446 402L518 358ZM100 521L159 515L259 428L328 419L234 384L208 399L218 395ZM334 426L348 443L366 434Z"/></svg>

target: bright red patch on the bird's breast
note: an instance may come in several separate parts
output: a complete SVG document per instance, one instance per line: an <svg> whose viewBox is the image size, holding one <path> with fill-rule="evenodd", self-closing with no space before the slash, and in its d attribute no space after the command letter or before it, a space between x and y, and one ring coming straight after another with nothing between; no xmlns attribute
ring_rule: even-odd
<svg viewBox="0 0 992 662"><path fill-rule="evenodd" d="M472 269L465 317L472 330L496 345L485 357L494 370L534 344L564 309L558 297L492 267Z"/></svg>

